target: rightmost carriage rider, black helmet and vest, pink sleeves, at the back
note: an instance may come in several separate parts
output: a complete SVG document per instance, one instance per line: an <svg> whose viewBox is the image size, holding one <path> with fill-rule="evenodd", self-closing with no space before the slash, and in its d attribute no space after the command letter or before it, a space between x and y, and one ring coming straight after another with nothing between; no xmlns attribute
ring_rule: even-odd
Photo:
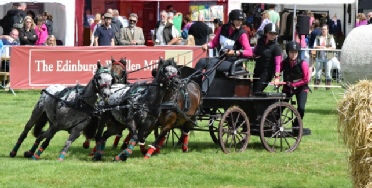
<svg viewBox="0 0 372 188"><path fill-rule="evenodd" d="M290 41L286 44L288 57L281 62L280 72L283 72L283 81L287 84L283 86L283 93L292 97L296 95L297 110L303 119L305 115L305 105L307 93L309 92L309 64L298 58L301 45L298 42ZM274 84L278 84L277 82ZM296 127L294 122L294 127ZM304 130L305 132L307 131ZM305 133L304 134L309 134Z"/></svg>

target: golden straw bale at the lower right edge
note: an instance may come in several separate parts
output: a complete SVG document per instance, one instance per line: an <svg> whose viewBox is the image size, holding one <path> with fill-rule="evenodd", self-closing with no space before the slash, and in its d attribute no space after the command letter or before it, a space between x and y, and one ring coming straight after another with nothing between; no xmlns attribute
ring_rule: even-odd
<svg viewBox="0 0 372 188"><path fill-rule="evenodd" d="M338 102L338 117L354 187L372 187L372 81L348 86Z"/></svg>

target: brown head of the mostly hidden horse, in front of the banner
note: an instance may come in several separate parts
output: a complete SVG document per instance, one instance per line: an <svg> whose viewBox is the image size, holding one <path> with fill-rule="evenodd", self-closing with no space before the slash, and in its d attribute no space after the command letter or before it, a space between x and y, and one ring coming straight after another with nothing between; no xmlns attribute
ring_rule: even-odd
<svg viewBox="0 0 372 188"><path fill-rule="evenodd" d="M121 58L119 61L116 61L113 57L111 57L111 74L114 77L114 79L112 80L113 83L127 83L126 66L126 57Z"/></svg>

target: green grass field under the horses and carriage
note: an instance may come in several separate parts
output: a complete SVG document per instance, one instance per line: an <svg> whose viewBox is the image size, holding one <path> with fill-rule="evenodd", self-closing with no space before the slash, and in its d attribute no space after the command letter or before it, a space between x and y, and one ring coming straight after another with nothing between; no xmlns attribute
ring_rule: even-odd
<svg viewBox="0 0 372 188"><path fill-rule="evenodd" d="M110 147L103 162L91 161L90 150L82 148L83 137L73 143L64 162L57 161L66 132L56 134L39 161L23 158L34 142L31 134L10 158L39 91L18 91L17 96L0 92L0 187L352 187L348 153L336 131L342 92L323 88L309 93L304 127L312 135L303 137L293 153L269 153L252 136L245 152L224 154L208 133L193 132L189 153L168 145L160 155L143 160L136 147L120 163L111 162L120 151Z"/></svg>

